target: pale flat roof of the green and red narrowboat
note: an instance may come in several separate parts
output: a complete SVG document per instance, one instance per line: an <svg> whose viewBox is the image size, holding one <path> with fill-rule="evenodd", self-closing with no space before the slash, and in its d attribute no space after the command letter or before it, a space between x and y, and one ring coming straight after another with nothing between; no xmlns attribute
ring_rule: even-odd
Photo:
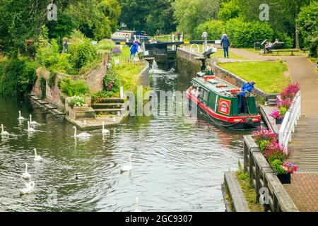
<svg viewBox="0 0 318 226"><path fill-rule="evenodd" d="M224 81L221 78L215 77L214 79L205 80L203 77L196 77L196 78L193 78L193 82L195 85L200 85L202 86L202 88L211 90L215 93L218 93L219 95L228 96L228 97L236 97L236 95L232 95L230 93L230 90L238 88L238 87L228 83L227 81ZM225 84L228 86L225 88L216 87L216 85L220 85L220 84Z"/></svg>

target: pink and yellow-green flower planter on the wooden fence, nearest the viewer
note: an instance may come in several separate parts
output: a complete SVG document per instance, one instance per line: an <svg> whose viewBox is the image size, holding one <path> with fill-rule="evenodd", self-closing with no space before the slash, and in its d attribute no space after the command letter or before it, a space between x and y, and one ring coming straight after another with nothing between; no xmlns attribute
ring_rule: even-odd
<svg viewBox="0 0 318 226"><path fill-rule="evenodd" d="M290 174L297 171L297 166L290 162L290 149L284 148L283 144L278 142L276 133L268 129L254 131L254 138L261 149L261 153L266 157L269 165L275 171L277 177L282 183L290 183Z"/></svg>

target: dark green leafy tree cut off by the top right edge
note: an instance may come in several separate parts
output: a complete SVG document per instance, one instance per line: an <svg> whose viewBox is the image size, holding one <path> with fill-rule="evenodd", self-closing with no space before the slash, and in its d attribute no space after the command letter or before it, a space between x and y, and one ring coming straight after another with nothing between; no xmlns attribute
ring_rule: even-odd
<svg viewBox="0 0 318 226"><path fill-rule="evenodd" d="M318 2L313 1L301 9L297 23L305 44L310 47L310 55L317 57L318 48Z"/></svg>

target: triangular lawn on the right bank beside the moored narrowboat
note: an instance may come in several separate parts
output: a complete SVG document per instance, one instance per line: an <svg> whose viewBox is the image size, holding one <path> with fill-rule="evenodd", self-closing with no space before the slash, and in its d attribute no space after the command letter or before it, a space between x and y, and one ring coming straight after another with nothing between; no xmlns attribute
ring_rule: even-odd
<svg viewBox="0 0 318 226"><path fill-rule="evenodd" d="M288 66L283 61L219 63L218 66L245 81L256 81L255 86L266 93L281 93L290 84L290 76L285 75Z"/></svg>

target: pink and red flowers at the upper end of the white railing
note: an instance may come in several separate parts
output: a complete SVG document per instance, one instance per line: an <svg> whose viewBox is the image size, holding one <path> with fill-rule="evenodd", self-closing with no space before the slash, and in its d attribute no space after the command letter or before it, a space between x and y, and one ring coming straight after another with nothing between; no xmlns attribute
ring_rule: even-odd
<svg viewBox="0 0 318 226"><path fill-rule="evenodd" d="M286 112L288 109L290 109L293 99L295 98L295 95L300 90L299 84L291 84L288 85L285 90L283 90L283 93L279 95L276 109L273 109L273 112L269 114L269 116L273 117L273 119L276 119L276 124L281 124L283 121L283 118L285 117Z"/></svg>

